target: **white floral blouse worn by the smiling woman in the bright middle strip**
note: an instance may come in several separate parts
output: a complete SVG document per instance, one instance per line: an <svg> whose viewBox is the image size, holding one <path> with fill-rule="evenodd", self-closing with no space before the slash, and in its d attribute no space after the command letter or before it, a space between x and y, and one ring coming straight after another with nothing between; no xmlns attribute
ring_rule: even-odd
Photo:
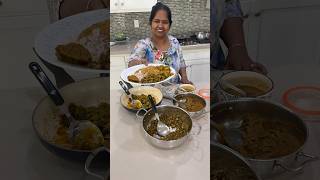
<svg viewBox="0 0 320 180"><path fill-rule="evenodd" d="M170 47L167 51L158 50L153 45L150 38L138 41L128 58L128 62L132 60L145 59L148 63L169 65L178 73L180 68L186 67L185 60L182 55L182 48L175 37L169 35L168 38Z"/></svg>

